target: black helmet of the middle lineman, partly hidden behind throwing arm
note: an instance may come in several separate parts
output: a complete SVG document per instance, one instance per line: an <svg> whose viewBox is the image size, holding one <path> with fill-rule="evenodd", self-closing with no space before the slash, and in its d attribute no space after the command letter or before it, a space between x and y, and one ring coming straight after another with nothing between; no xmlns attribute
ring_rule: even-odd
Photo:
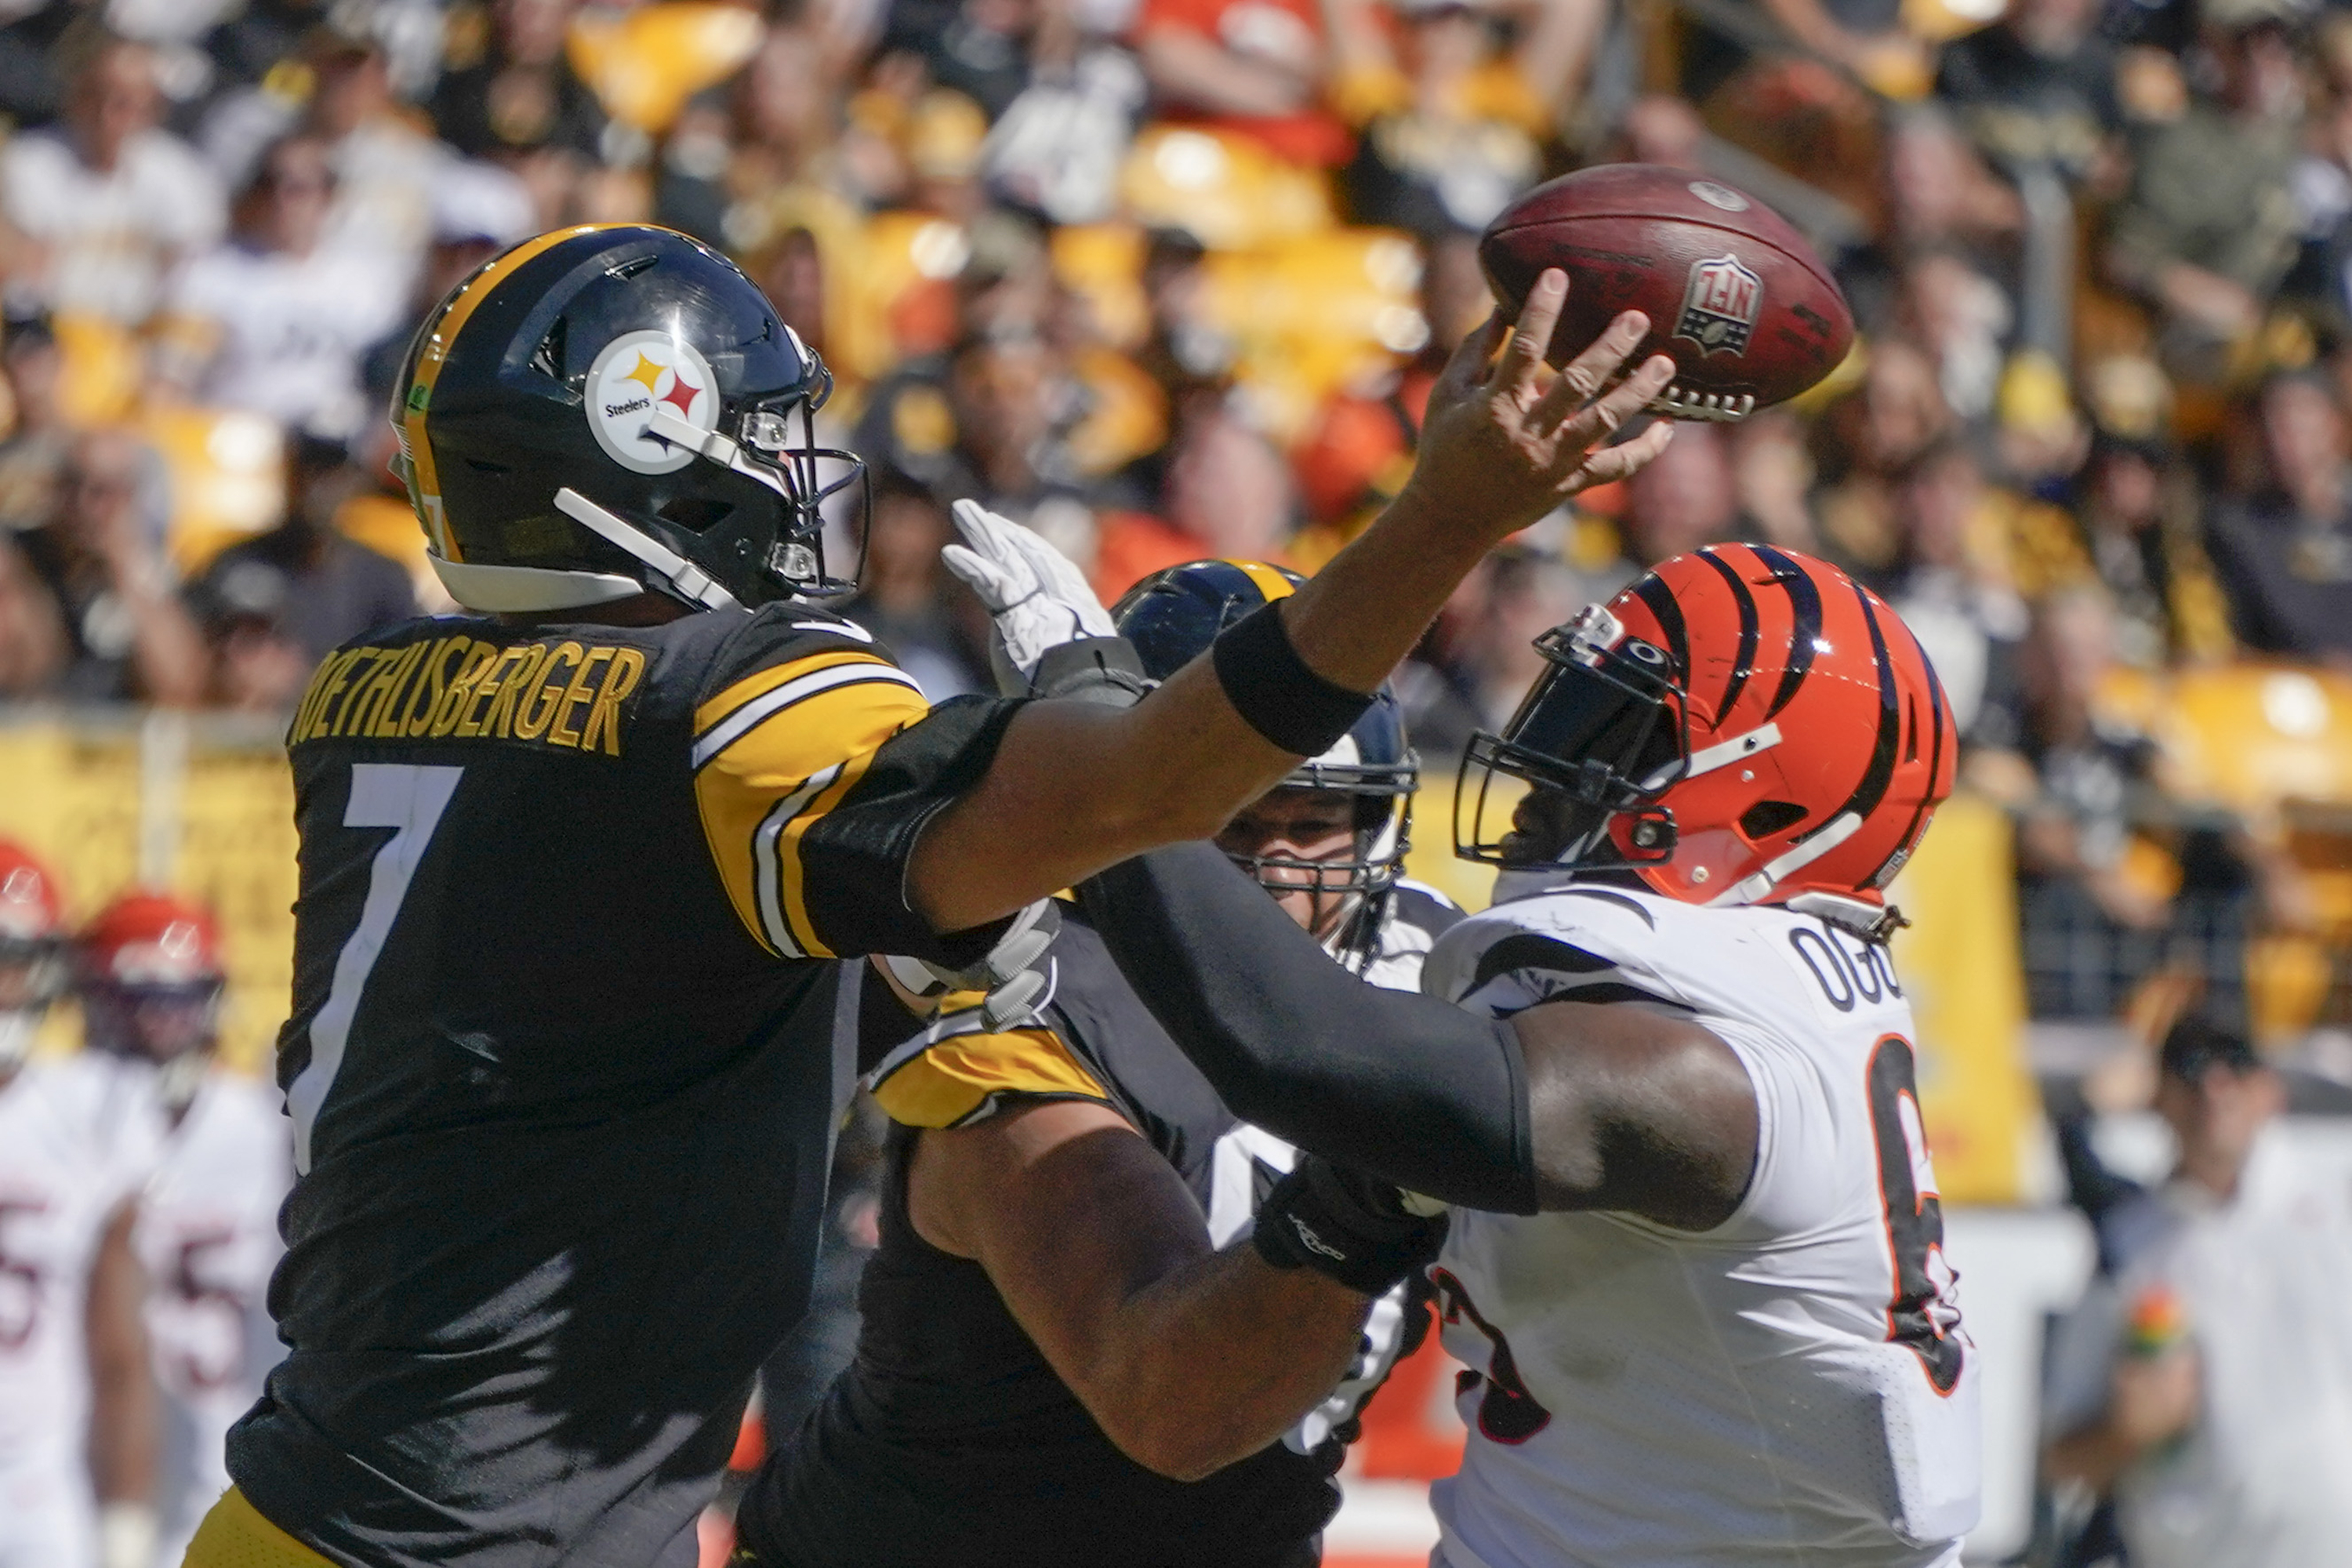
<svg viewBox="0 0 2352 1568"><path fill-rule="evenodd" d="M1263 562L1188 562L1155 571L1112 607L1120 635L1136 646L1143 672L1167 679L1197 658L1216 635L1272 599L1287 599L1296 571ZM1235 856L1235 863L1272 893L1296 891L1296 882L1268 872L1315 875L1315 889L1348 893L1355 910L1331 936L1341 961L1362 969L1381 945L1388 891L1404 875L1404 851L1414 827L1414 790L1421 764L1404 741L1404 710L1381 684L1364 717L1322 757L1301 762L1282 780L1291 790L1338 790L1355 797L1355 856L1348 860L1296 860L1291 856ZM1334 879L1331 872L1343 872Z"/></svg>

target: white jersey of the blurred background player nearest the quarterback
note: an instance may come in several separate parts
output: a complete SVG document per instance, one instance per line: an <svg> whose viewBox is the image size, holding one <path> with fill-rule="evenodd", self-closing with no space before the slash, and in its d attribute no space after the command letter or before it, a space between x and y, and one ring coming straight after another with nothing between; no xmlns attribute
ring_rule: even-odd
<svg viewBox="0 0 2352 1568"><path fill-rule="evenodd" d="M285 1347L268 1314L278 1206L294 1147L278 1093L212 1072L172 1128L132 1239L148 1276L148 1345L162 1394L158 1563L228 1490L228 1427L261 1396Z"/></svg>

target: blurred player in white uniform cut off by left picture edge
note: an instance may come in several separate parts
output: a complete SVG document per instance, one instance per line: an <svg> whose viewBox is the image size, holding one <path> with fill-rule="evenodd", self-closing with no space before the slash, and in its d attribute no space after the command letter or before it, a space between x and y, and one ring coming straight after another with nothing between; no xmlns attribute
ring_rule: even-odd
<svg viewBox="0 0 2352 1568"><path fill-rule="evenodd" d="M54 879L0 844L0 1568L99 1563L101 1500L136 1530L153 1490L132 1225L158 1124L115 1063L26 1060L64 947Z"/></svg>

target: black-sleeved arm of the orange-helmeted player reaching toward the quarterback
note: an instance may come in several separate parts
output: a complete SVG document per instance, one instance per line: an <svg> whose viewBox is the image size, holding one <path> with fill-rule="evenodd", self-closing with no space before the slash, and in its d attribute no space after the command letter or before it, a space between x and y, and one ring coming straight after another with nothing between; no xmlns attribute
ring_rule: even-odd
<svg viewBox="0 0 2352 1568"><path fill-rule="evenodd" d="M1355 983L1218 851L1080 889L1136 994L1237 1117L1446 1204L1606 1208L1708 1229L1757 1159L1757 1098L1712 1032L1543 1001L1477 1018Z"/></svg>

